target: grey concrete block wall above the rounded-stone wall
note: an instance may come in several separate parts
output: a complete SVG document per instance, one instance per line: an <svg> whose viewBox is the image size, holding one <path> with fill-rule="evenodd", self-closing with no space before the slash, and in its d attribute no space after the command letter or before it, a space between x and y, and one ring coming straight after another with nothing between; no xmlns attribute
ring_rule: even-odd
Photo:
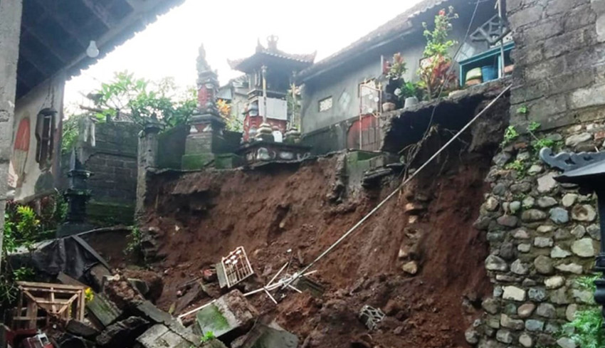
<svg viewBox="0 0 605 348"><path fill-rule="evenodd" d="M605 1L507 0L516 48L511 120L543 129L605 117ZM527 105L528 115L516 110Z"/></svg>

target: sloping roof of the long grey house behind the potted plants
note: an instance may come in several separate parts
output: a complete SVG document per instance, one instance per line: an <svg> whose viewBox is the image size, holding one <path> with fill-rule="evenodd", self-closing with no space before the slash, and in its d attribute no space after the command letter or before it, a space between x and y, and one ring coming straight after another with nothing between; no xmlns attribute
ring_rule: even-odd
<svg viewBox="0 0 605 348"><path fill-rule="evenodd" d="M405 33L412 28L411 20L414 19L414 17L431 10L436 6L451 3L453 1L456 0L423 0L419 2L410 9L404 11L402 14L396 16L394 19L391 19L391 21L384 23L376 30L360 38L354 43L351 43L349 46L343 48L332 56L320 60L309 68L302 70L298 74L299 80L307 80L321 70L330 69L335 65L339 65L344 61L358 56L360 53L365 51L367 48L372 47L376 43L388 41L391 38ZM461 2L461 0L458 0L458 2ZM468 0L466 2L468 2Z"/></svg>

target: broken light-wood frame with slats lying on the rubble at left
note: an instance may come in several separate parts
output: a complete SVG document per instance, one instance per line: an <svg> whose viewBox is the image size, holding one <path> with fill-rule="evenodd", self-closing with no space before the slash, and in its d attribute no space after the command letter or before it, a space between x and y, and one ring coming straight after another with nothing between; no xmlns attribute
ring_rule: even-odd
<svg viewBox="0 0 605 348"><path fill-rule="evenodd" d="M14 329L36 329L51 317L65 322L83 320L86 287L78 285L17 282L19 300L13 317Z"/></svg>

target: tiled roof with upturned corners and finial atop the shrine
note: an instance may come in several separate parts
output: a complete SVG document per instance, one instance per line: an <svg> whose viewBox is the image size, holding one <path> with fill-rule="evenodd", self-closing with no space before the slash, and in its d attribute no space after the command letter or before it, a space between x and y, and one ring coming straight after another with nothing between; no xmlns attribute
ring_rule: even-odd
<svg viewBox="0 0 605 348"><path fill-rule="evenodd" d="M256 52L248 58L227 60L229 66L233 70L239 70L243 73L251 73L251 71L261 68L263 65L282 65L298 72L312 65L317 54L317 52L292 54L280 51L277 47L278 38L276 36L269 36L267 41L267 47L261 45L261 42L258 41Z"/></svg>

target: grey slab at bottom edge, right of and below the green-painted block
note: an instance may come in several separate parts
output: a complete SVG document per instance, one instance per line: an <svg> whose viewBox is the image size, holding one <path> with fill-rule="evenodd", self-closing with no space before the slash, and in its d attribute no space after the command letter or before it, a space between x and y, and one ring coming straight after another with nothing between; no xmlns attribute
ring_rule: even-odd
<svg viewBox="0 0 605 348"><path fill-rule="evenodd" d="M232 348L296 348L298 336L285 331L275 322L265 325L257 322L243 337L231 344Z"/></svg>

